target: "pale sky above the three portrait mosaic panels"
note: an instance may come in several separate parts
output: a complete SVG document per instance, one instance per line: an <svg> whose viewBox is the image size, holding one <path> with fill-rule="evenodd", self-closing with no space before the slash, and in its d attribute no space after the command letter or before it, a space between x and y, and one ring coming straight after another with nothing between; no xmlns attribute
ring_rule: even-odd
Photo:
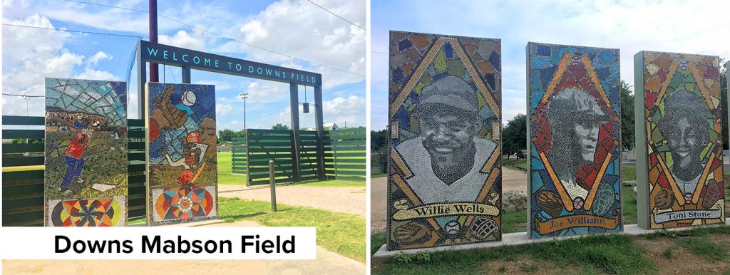
<svg viewBox="0 0 730 275"><path fill-rule="evenodd" d="M621 50L621 79L634 83L640 50L730 59L730 1L372 0L371 127L388 124L388 31L502 39L503 123L526 112L527 42Z"/></svg>

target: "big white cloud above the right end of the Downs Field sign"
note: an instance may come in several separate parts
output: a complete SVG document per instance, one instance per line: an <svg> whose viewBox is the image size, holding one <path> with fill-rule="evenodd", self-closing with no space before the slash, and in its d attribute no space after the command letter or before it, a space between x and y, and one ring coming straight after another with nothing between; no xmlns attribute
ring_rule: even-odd
<svg viewBox="0 0 730 275"><path fill-rule="evenodd" d="M364 1L318 1L323 7L352 20L365 23ZM350 25L328 14L307 1L277 1L264 11L242 23L237 38L258 47L285 53L334 68L365 74L366 34L360 28ZM276 34L276 35L274 35ZM227 42L219 47L225 52L245 51L256 61L280 63L294 69L317 71L323 74L324 88L345 83L358 82L364 77L342 71L314 66L283 55L254 49L238 42Z"/></svg>

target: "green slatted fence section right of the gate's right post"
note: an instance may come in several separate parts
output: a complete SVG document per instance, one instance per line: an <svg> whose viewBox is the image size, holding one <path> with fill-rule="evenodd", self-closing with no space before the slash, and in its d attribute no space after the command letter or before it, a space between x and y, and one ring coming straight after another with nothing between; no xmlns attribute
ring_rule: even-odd
<svg viewBox="0 0 730 275"><path fill-rule="evenodd" d="M365 128L331 130L328 132L331 142L334 178L364 182L366 179Z"/></svg>

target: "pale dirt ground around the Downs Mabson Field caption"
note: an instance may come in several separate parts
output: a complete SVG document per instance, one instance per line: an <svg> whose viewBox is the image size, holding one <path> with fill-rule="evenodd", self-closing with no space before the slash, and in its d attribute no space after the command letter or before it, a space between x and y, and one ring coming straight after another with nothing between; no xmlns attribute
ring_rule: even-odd
<svg viewBox="0 0 730 275"><path fill-rule="evenodd" d="M213 226L261 226L240 221ZM317 247L317 260L3 260L3 274L365 274L365 263ZM62 271L62 272L61 272Z"/></svg>

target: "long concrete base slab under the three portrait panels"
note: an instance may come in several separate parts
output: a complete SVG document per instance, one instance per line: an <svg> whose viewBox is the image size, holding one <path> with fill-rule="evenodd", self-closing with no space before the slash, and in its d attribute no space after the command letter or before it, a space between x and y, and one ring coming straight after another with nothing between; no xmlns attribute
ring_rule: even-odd
<svg viewBox="0 0 730 275"><path fill-rule="evenodd" d="M666 231L686 231L686 230L690 230L690 229L694 229L694 228L708 228L708 227L718 227L718 226L725 226L725 225L730 225L730 219L726 219L724 224L720 223L720 224L716 224L716 225L693 226L693 227L688 227L688 228L671 228L671 229L667 229ZM633 224L633 225L624 225L623 232L621 232L621 233L607 233L606 235L623 234L623 235L637 236L637 235L646 235L648 233L654 233L654 232L660 232L660 231L661 230L657 230L657 229L647 230L647 229L639 228L639 225ZM456 250L469 250L469 249L488 249L488 248L494 248L494 247L512 247L512 246L523 245L523 244L537 244L537 243L545 242L545 241L562 240L562 239L576 239L576 238L587 237L587 236L596 236L596 235L599 235L599 234L530 239L527 232L515 232L515 233L502 234L502 241L491 241L491 242L483 242L483 243L478 243L478 244L461 244L461 245L453 245L450 247L431 247L431 248L404 249L404 250L393 250L393 251L386 250L385 244L383 244L383 246L380 247L380 249L377 249L377 252L375 252L375 254L372 255L371 262L372 263L382 263L383 260L387 260L388 258L391 258L395 255L399 255L400 253L416 254L418 252L441 252L441 251L456 251Z"/></svg>

